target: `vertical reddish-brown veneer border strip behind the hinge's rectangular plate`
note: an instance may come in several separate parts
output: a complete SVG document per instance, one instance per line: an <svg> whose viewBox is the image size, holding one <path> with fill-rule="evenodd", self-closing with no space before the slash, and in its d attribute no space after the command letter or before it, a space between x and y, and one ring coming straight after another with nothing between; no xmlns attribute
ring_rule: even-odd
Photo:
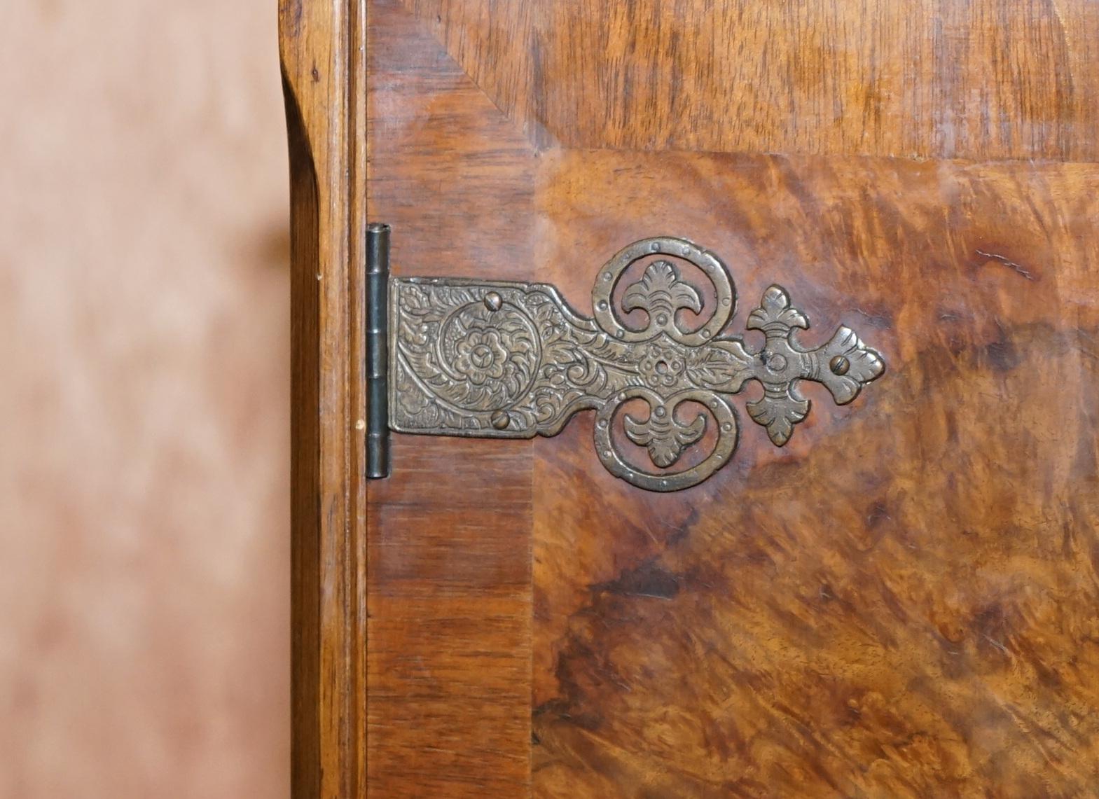
<svg viewBox="0 0 1099 799"><path fill-rule="evenodd" d="M533 277L533 147L396 2L369 19L393 274ZM526 796L531 442L397 436L392 457L368 491L370 796Z"/></svg>

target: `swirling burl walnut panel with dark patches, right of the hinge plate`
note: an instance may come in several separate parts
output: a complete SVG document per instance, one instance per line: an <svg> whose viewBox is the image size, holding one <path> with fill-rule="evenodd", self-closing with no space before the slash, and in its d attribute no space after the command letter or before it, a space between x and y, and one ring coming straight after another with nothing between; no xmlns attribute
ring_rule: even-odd
<svg viewBox="0 0 1099 799"><path fill-rule="evenodd" d="M845 323L889 370L806 387L782 450L742 399L675 495L611 477L590 419L537 441L534 796L1089 796L1099 167L544 164L540 277L581 308L588 254L675 232L731 265L731 331L777 281L803 342Z"/></svg>

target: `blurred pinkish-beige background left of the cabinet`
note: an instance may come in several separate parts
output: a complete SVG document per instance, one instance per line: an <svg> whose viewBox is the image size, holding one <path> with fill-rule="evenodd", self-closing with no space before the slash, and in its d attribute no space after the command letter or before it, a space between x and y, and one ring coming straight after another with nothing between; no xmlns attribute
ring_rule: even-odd
<svg viewBox="0 0 1099 799"><path fill-rule="evenodd" d="M0 797L285 797L275 0L8 0Z"/></svg>

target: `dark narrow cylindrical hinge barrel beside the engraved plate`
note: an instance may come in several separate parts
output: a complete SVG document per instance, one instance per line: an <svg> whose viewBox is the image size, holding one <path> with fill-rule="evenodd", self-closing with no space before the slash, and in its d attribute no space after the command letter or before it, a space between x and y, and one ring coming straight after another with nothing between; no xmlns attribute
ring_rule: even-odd
<svg viewBox="0 0 1099 799"><path fill-rule="evenodd" d="M389 477L389 225L366 228L366 476Z"/></svg>

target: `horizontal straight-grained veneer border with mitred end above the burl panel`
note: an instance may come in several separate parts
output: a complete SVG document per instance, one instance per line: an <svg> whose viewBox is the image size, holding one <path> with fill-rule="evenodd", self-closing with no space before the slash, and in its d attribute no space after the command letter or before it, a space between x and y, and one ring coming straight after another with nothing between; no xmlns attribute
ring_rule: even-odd
<svg viewBox="0 0 1099 799"><path fill-rule="evenodd" d="M1091 0L409 0L542 144L1094 160Z"/></svg>

